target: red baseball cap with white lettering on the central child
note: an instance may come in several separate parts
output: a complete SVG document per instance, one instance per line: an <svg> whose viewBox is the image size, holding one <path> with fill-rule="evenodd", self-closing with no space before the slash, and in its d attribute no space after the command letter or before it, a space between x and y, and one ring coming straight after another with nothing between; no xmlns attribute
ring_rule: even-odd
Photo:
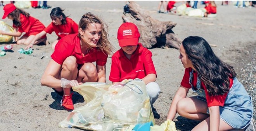
<svg viewBox="0 0 256 131"><path fill-rule="evenodd" d="M120 47L128 45L138 45L140 33L138 27L131 23L123 23L118 29L118 42Z"/></svg>

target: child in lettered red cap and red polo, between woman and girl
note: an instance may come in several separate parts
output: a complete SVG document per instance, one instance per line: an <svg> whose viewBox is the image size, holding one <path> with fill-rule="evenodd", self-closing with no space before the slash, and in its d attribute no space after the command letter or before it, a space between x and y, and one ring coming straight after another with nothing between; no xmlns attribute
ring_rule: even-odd
<svg viewBox="0 0 256 131"><path fill-rule="evenodd" d="M156 70L152 53L138 43L140 34L135 24L126 22L118 29L118 42L121 49L112 55L109 81L112 84L124 79L139 78L146 84L151 106L159 96L160 88L156 81Z"/></svg>

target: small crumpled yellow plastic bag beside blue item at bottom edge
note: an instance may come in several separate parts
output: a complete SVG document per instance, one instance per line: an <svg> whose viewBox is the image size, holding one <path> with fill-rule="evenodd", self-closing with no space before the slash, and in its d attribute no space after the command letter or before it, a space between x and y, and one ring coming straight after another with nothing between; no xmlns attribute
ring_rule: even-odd
<svg viewBox="0 0 256 131"><path fill-rule="evenodd" d="M161 126L150 126L150 131L177 131L175 122L170 119L164 121Z"/></svg>

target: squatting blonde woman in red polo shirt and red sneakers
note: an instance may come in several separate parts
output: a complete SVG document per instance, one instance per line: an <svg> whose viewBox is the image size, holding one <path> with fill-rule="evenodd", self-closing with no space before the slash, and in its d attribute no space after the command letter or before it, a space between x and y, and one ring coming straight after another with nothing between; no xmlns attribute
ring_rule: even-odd
<svg viewBox="0 0 256 131"><path fill-rule="evenodd" d="M41 84L63 95L61 103L67 110L74 109L71 87L85 82L106 82L107 56L112 54L113 46L105 26L99 17L90 12L84 14L78 34L59 40L51 55Z"/></svg>

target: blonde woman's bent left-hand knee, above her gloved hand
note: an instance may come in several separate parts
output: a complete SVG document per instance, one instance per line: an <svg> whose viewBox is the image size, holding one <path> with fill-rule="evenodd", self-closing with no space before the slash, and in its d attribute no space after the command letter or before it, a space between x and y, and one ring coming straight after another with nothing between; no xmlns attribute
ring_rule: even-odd
<svg viewBox="0 0 256 131"><path fill-rule="evenodd" d="M67 57L63 64L62 64L63 69L65 70L69 70L69 71L73 71L75 69L77 69L77 64L76 64L76 57L74 56L69 56Z"/></svg>

